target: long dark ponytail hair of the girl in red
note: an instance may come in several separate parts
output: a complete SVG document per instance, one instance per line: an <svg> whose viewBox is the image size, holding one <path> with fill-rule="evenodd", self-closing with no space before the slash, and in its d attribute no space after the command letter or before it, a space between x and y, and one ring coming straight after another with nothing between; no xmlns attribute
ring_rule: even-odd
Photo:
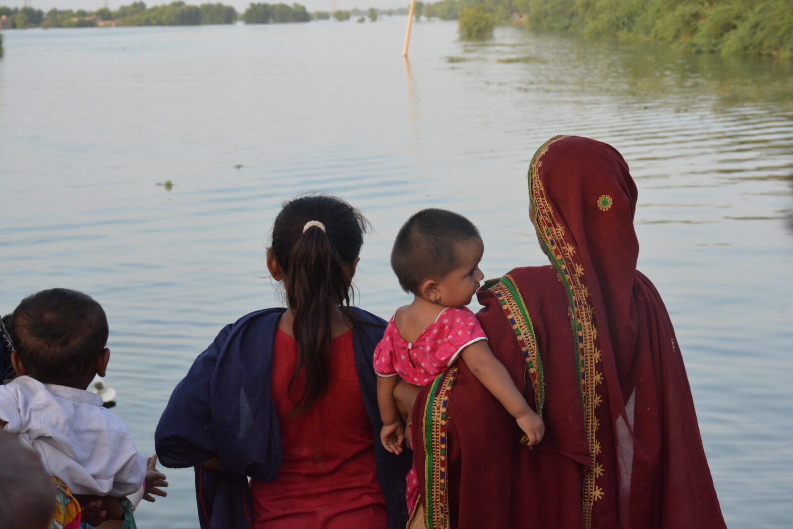
<svg viewBox="0 0 793 529"><path fill-rule="evenodd" d="M306 226L311 221L322 226ZM353 319L346 307L350 306L352 272L368 226L360 211L328 195L289 200L275 218L273 255L285 276L286 301L294 314L297 341L290 393L297 375L305 369L303 392L292 399L293 414L304 412L328 390L333 312L340 307Z"/></svg>

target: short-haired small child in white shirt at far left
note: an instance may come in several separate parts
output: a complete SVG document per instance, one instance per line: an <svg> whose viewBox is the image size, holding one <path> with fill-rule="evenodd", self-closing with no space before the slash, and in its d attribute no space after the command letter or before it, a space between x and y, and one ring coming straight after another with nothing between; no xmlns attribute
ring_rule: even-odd
<svg viewBox="0 0 793 529"><path fill-rule="evenodd" d="M16 378L0 386L0 428L32 447L75 495L124 497L167 486L162 474L147 472L124 422L86 391L110 357L102 306L53 288L23 299L12 322Z"/></svg>

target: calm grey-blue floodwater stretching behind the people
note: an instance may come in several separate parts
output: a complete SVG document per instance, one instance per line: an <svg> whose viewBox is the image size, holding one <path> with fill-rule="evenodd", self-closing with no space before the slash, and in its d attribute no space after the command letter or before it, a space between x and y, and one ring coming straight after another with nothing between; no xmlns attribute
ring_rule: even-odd
<svg viewBox="0 0 793 529"><path fill-rule="evenodd" d="M676 325L730 527L789 527L793 63L514 28L465 44L442 22L414 25L405 63L404 21L4 32L0 310L47 287L94 295L114 411L151 454L193 358L279 303L263 255L283 200L362 209L356 299L388 317L406 300L390 244L421 207L477 223L485 276L545 262L529 161L588 135L637 181L640 268ZM197 527L192 471L167 474L139 527Z"/></svg>

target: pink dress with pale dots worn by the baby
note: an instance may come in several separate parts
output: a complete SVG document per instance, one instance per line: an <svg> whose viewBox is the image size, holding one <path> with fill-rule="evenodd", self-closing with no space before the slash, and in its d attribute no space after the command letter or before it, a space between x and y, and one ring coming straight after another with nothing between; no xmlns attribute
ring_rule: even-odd
<svg viewBox="0 0 793 529"><path fill-rule="evenodd" d="M374 349L374 371L382 377L399 375L405 382L428 386L449 369L463 349L487 339L477 317L465 307L447 306L413 342L404 340L392 317ZM408 512L413 512L419 497L415 466L408 473L406 497Z"/></svg>

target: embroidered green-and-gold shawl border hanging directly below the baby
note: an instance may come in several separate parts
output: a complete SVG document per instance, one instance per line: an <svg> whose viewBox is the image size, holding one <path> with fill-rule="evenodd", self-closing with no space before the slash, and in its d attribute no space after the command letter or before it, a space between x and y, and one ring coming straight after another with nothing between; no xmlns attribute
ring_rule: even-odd
<svg viewBox="0 0 793 529"><path fill-rule="evenodd" d="M449 495L446 485L446 410L458 367L438 376L430 386L421 428L424 443L424 525L427 529L449 529ZM415 513L414 513L415 514Z"/></svg>

